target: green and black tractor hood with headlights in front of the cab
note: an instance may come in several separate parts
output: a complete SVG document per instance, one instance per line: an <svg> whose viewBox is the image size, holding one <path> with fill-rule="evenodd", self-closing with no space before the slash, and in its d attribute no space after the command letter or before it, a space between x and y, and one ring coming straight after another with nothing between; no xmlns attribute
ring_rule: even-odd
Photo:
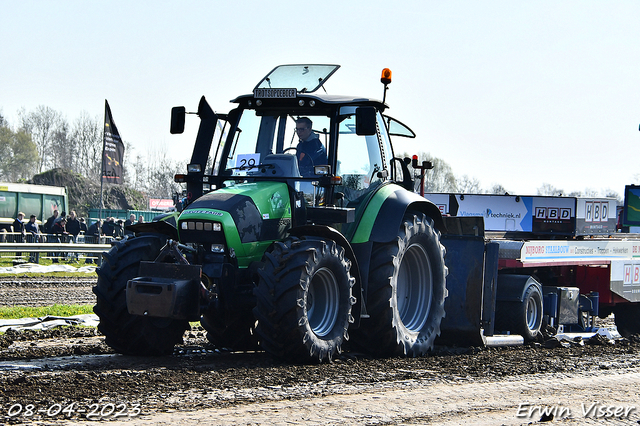
<svg viewBox="0 0 640 426"><path fill-rule="evenodd" d="M227 241L236 232L243 244L281 239L291 228L289 189L281 182L222 188L191 203L180 215L179 222L185 220L221 222Z"/></svg>

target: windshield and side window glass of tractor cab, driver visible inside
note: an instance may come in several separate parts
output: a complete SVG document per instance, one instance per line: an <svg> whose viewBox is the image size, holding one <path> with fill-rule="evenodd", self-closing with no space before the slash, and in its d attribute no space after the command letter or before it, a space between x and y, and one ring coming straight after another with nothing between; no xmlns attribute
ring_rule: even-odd
<svg viewBox="0 0 640 426"><path fill-rule="evenodd" d="M378 114L376 134L358 135L356 109L340 108L335 144L329 143L331 119L326 115L244 110L226 158L225 185L286 179L313 204L321 193L317 182L329 173L341 178L335 187L340 204L355 202L391 177L393 156L382 116Z"/></svg>

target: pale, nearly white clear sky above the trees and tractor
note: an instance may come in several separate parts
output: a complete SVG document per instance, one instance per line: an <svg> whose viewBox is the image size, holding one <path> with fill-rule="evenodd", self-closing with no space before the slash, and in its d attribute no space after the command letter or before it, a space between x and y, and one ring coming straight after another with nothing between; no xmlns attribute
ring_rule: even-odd
<svg viewBox="0 0 640 426"><path fill-rule="evenodd" d="M197 131L279 64L341 65L330 94L382 99L428 152L488 189L532 195L640 183L638 1L0 1L0 113L102 120L137 155L185 168ZM131 157L129 157L131 158ZM603 195L603 194L602 194Z"/></svg>

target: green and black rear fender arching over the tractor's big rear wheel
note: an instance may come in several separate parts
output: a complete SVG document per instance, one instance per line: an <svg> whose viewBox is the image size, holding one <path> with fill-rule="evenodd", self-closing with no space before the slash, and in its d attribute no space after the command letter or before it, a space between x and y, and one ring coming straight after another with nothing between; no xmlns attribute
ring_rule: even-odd
<svg viewBox="0 0 640 426"><path fill-rule="evenodd" d="M446 231L438 207L420 195L395 185L383 185L370 199L353 235L353 244L388 243L398 236L407 210L421 212L430 217L436 229Z"/></svg>

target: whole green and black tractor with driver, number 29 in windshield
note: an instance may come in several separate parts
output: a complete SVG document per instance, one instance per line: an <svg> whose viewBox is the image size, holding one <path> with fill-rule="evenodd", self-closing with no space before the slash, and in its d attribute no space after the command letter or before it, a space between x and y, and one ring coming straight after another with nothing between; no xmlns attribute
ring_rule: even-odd
<svg viewBox="0 0 640 426"><path fill-rule="evenodd" d="M390 140L415 134L384 101L318 93L338 68L278 66L227 114L200 100L179 213L132 226L97 270L115 351L171 354L193 321L216 347L290 362L330 361L347 340L374 356L433 348L444 225Z"/></svg>

